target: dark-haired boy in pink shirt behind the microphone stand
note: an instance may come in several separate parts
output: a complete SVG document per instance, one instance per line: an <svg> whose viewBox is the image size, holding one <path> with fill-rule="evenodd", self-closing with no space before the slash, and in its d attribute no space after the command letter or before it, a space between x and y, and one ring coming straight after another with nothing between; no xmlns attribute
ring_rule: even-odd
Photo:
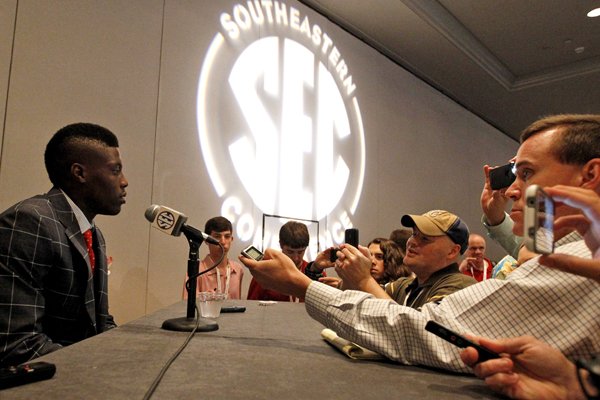
<svg viewBox="0 0 600 400"><path fill-rule="evenodd" d="M244 278L244 267L227 255L233 243L233 225L225 217L213 217L206 221L204 232L214 237L223 246L206 242L209 253L200 263L200 272L211 268L221 259L219 265L211 271L198 277L196 292L218 292L226 293L228 299L240 299L242 297L242 279ZM221 258L222 256L222 258ZM187 290L183 287L183 297L187 298Z"/></svg>

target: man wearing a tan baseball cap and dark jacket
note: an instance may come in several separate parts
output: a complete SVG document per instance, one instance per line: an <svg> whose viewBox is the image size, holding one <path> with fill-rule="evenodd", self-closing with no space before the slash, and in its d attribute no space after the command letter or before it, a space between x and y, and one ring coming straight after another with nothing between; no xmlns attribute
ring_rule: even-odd
<svg viewBox="0 0 600 400"><path fill-rule="evenodd" d="M415 274L385 287L399 304L420 309L477 281L458 270L458 258L469 243L469 228L456 215L432 210L423 215L404 215L402 225L412 228L406 243L404 264Z"/></svg>

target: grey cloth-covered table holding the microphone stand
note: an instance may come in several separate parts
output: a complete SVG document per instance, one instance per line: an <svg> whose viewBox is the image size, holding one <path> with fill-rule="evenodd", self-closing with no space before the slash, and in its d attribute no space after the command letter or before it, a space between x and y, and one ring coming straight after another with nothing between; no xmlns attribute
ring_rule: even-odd
<svg viewBox="0 0 600 400"><path fill-rule="evenodd" d="M245 305L196 333L152 399L496 399L483 382L427 368L352 360L323 341L303 304ZM0 391L10 399L142 399L188 333L161 329L186 314L174 304L50 353L54 378Z"/></svg>

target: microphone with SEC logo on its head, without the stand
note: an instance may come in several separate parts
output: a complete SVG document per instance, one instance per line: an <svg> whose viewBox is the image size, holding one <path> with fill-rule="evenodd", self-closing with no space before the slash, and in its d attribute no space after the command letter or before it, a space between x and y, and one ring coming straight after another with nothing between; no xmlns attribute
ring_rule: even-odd
<svg viewBox="0 0 600 400"><path fill-rule="evenodd" d="M156 204L148 207L144 216L150 221L153 228L171 236L179 236L183 234L187 238L196 239L202 243L206 240L208 243L219 246L219 241L206 233L186 225L187 215L175 211L172 208L159 206Z"/></svg>

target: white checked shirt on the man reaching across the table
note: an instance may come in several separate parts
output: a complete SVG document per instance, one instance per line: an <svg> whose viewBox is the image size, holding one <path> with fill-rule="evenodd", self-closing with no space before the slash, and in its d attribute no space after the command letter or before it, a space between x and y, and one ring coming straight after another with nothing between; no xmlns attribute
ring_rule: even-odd
<svg viewBox="0 0 600 400"><path fill-rule="evenodd" d="M581 236L557 242L557 253L590 258ZM600 284L546 268L534 258L506 280L490 279L455 292L422 311L358 291L313 282L308 313L339 336L404 364L470 372L460 350L425 331L436 320L456 332L491 338L532 335L568 357L600 352Z"/></svg>

